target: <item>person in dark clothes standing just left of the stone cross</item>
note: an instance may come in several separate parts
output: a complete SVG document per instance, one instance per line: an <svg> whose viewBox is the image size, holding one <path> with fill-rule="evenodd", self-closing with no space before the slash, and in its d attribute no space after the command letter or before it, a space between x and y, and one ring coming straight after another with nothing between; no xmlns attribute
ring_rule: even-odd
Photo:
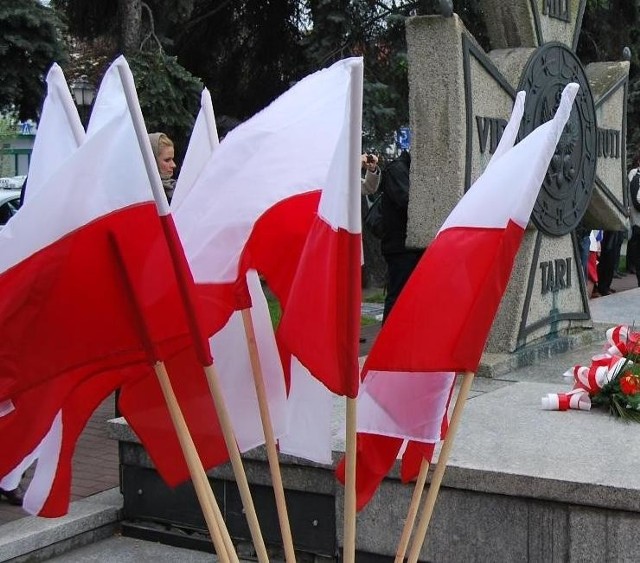
<svg viewBox="0 0 640 563"><path fill-rule="evenodd" d="M410 167L411 155L404 151L384 168L380 180L383 192L381 250L387 263L388 280L383 322L424 252L424 249L407 248L406 245Z"/></svg>

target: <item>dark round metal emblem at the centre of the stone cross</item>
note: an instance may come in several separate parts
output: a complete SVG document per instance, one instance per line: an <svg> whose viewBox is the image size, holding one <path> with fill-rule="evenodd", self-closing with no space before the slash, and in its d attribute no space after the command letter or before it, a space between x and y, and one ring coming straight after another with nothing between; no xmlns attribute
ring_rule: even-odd
<svg viewBox="0 0 640 563"><path fill-rule="evenodd" d="M577 82L580 90L531 216L536 227L551 236L575 229L589 205L598 156L595 105L580 61L561 43L537 49L518 85L518 91L527 92L520 126L525 137L555 115L569 82Z"/></svg>

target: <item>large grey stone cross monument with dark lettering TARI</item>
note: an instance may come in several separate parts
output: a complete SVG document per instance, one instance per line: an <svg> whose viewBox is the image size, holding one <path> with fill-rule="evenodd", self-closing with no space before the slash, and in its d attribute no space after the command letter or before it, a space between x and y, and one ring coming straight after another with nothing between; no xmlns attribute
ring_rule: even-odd
<svg viewBox="0 0 640 563"><path fill-rule="evenodd" d="M519 90L527 92L523 137L555 114L567 83L580 84L493 324L488 352L512 353L590 327L574 229L583 217L590 228L624 228L629 63L582 66L575 47L584 4L483 2L492 46L488 53L456 14L407 22L409 246L428 246L482 173ZM465 267L459 264L451 276L461 275Z"/></svg>

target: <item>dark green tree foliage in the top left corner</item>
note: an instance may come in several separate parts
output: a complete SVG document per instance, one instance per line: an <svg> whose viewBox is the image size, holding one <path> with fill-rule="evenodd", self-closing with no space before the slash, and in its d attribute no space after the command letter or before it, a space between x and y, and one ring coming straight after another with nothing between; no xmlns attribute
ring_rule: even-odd
<svg viewBox="0 0 640 563"><path fill-rule="evenodd" d="M64 61L62 24L37 0L0 3L0 111L37 118L44 77L54 61Z"/></svg>

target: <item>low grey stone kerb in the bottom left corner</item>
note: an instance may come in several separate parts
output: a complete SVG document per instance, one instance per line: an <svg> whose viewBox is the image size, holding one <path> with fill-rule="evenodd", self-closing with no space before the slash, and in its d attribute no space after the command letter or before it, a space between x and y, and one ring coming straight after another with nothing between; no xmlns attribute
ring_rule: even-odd
<svg viewBox="0 0 640 563"><path fill-rule="evenodd" d="M0 526L0 561L45 561L117 530L122 495L117 488L71 503L61 518L28 516Z"/></svg>

